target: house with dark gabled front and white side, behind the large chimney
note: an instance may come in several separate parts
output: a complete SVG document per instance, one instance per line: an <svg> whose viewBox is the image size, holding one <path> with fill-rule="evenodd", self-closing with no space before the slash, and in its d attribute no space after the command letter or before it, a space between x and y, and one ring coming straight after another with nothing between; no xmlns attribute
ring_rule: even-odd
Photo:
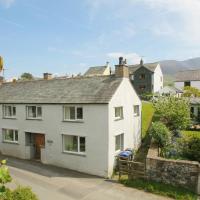
<svg viewBox="0 0 200 200"><path fill-rule="evenodd" d="M163 73L159 63L143 63L129 65L130 79L136 92L156 93L163 88Z"/></svg>

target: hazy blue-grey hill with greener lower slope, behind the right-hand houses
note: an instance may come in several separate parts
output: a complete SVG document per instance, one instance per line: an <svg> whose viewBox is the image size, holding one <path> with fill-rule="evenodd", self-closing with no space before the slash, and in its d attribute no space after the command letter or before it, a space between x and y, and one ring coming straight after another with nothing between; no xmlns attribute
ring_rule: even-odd
<svg viewBox="0 0 200 200"><path fill-rule="evenodd" d="M159 61L164 74L164 85L173 85L175 74L188 69L200 69L200 57L184 61L163 60Z"/></svg>

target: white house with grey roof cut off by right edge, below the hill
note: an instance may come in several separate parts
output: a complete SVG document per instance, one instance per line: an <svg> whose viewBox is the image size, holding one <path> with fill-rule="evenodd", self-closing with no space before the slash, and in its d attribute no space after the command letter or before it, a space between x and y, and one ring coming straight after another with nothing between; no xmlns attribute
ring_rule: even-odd
<svg viewBox="0 0 200 200"><path fill-rule="evenodd" d="M175 87L183 89L186 86L200 89L200 69L177 72Z"/></svg>

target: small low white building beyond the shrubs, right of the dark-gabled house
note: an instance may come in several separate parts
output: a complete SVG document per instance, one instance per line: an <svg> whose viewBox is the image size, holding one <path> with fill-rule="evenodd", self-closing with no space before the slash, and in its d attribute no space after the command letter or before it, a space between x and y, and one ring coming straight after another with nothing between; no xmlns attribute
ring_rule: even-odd
<svg viewBox="0 0 200 200"><path fill-rule="evenodd" d="M175 88L173 86L165 86L164 88L158 91L158 94L161 96L175 96L181 97L183 91L181 89Z"/></svg>

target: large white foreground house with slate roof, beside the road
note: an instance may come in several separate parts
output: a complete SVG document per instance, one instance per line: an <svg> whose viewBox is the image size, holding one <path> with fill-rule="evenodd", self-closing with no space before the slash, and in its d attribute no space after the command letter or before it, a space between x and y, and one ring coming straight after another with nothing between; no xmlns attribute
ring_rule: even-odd
<svg viewBox="0 0 200 200"><path fill-rule="evenodd" d="M128 66L115 75L3 83L0 152L110 177L115 156L141 143L141 101Z"/></svg>

